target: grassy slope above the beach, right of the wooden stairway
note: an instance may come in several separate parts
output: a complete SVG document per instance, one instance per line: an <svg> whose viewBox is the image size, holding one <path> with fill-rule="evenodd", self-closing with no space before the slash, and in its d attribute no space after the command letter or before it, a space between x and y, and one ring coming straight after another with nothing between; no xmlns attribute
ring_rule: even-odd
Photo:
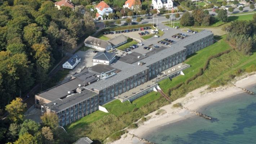
<svg viewBox="0 0 256 144"><path fill-rule="evenodd" d="M203 72L203 75L198 76L188 84L186 83L189 78L195 76L199 72L200 68L204 67L208 57L228 49L231 50L230 53L223 54L218 58L210 60L207 69ZM182 84L177 89L171 91L171 98L173 100L178 99L189 91L197 89L203 85L217 87L228 84L232 79L231 75L235 76L240 74L239 69L246 69L246 67L256 64L256 53L253 53L251 56L245 56L233 50L231 46L224 41L224 39L221 39L215 44L197 51L197 53L192 57L187 58L185 63L190 64L191 67L184 70L184 76L173 78L172 81L165 79L159 82L159 86L165 93L168 93L169 88Z"/></svg>

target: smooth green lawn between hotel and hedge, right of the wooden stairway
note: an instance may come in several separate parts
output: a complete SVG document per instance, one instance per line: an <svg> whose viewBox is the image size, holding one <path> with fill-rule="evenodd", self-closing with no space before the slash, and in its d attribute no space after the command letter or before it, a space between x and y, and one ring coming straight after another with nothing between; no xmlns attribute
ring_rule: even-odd
<svg viewBox="0 0 256 144"><path fill-rule="evenodd" d="M199 71L199 68L204 66L209 56L230 49L231 47L224 41L223 38L224 37L222 37L220 41L214 43L213 45L197 51L195 54L193 54L193 56L189 56L189 58L187 58L184 63L190 64L191 67L183 71L185 75L180 75L176 78L173 78L172 81L169 78L160 81L160 88L165 93L167 93L170 87L174 87L177 84L180 84L180 82L185 82L190 77L193 77Z"/></svg>

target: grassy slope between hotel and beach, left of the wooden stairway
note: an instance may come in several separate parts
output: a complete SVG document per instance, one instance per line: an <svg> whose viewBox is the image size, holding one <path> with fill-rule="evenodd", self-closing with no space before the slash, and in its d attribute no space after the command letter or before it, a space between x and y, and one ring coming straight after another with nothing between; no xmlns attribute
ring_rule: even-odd
<svg viewBox="0 0 256 144"><path fill-rule="evenodd" d="M104 105L109 113L96 111L71 123L65 129L77 139L89 136L90 139L102 142L110 136L111 141L118 138L117 134L123 134L118 131L166 104L168 102L156 92L146 94L134 100L132 104L114 100Z"/></svg>

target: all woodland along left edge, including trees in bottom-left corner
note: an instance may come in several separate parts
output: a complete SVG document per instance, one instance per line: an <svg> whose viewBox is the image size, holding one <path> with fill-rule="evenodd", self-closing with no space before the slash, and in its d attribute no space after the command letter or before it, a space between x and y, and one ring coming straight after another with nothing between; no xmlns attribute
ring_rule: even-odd
<svg viewBox="0 0 256 144"><path fill-rule="evenodd" d="M66 50L94 32L92 15L83 6L58 10L54 1L0 1L0 115L9 113L0 117L1 144L74 142L58 128L57 116L44 116L41 124L24 120L26 104L16 97L48 81Z"/></svg>

